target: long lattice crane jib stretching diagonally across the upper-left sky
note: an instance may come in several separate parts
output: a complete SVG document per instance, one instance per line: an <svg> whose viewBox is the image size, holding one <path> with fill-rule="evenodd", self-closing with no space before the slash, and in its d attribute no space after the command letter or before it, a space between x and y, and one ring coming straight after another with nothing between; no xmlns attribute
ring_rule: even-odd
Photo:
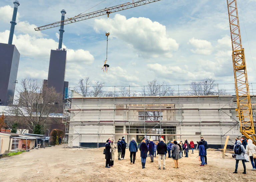
<svg viewBox="0 0 256 182"><path fill-rule="evenodd" d="M41 27L37 27L37 28L34 28L34 29L36 31L40 31L40 30L45 30L45 29L49 29L49 28L53 28L53 27L58 27L58 26L61 26L61 25L66 25L66 24L70 24L70 23L74 23L74 22L94 18L94 17L97 17L97 16L102 16L102 15L108 15L109 16L110 13L114 13L114 12L117 12L117 11L122 11L122 10L129 9L129 8L134 8L134 7L137 7L137 6L153 3L153 2L156 2L156 1L160 1L160 0L139 0L139 1L136 1L136 2L132 2L132 3L124 3L124 4L117 5L117 6L112 6L110 8L104 8L104 9L101 9L101 10L98 10L98 11L94 11L94 12L91 12L91 13L80 14L80 15L77 15L73 18L68 18L68 19L63 20L63 21L58 21L58 22L51 23L51 24L48 24L48 25L44 25L44 26L41 26Z"/></svg>

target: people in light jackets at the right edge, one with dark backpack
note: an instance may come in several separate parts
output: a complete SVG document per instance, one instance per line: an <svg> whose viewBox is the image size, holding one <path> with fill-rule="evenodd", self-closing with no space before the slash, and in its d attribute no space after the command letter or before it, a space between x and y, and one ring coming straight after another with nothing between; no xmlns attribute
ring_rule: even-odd
<svg viewBox="0 0 256 182"><path fill-rule="evenodd" d="M239 140L239 138L236 138L234 153L236 166L233 173L237 173L238 163L241 160L244 167L243 174L246 174L245 162L249 162L249 158L252 164L251 170L256 170L256 146L252 143L251 139L246 140L245 137L241 137L241 140Z"/></svg>

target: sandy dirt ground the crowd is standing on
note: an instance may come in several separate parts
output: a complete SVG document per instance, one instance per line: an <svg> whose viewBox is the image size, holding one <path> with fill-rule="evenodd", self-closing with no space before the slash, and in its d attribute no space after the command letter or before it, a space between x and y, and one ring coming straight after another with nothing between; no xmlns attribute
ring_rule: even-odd
<svg viewBox="0 0 256 182"><path fill-rule="evenodd" d="M225 159L221 152L208 150L207 163L200 167L197 153L179 160L179 169L174 169L171 158L166 159L166 170L158 170L157 157L153 163L148 157L146 169L142 169L140 152L135 164L130 164L130 153L126 159L117 160L114 166L105 168L103 148L63 148L64 145L31 150L17 156L0 159L0 181L256 181L256 171L251 171L247 162L247 174L242 174L239 163L238 174L233 174L235 160L231 154Z"/></svg>

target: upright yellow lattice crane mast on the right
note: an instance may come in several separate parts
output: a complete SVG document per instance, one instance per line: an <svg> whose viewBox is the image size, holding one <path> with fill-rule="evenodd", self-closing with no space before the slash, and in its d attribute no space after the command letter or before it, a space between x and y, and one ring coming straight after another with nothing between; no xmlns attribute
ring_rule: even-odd
<svg viewBox="0 0 256 182"><path fill-rule="evenodd" d="M227 4L240 132L248 139L252 139L253 143L256 143L244 49L241 42L237 2L236 0L227 0Z"/></svg>

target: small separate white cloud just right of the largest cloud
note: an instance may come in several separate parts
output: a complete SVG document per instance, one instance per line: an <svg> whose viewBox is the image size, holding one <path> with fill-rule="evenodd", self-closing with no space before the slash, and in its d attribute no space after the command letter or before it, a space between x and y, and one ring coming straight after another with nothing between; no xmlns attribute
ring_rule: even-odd
<svg viewBox="0 0 256 182"><path fill-rule="evenodd" d="M189 43L196 48L191 50L195 54L210 55L212 53L212 44L207 40L195 39L193 37L189 40Z"/></svg>

